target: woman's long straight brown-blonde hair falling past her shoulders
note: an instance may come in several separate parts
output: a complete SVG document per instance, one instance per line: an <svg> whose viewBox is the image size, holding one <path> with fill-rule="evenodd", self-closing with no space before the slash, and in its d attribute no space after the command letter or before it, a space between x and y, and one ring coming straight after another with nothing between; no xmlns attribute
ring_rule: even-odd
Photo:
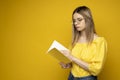
<svg viewBox="0 0 120 80"><path fill-rule="evenodd" d="M96 34L96 31L95 31L94 21L93 21L90 9L86 6L77 7L73 11L72 20L73 20L74 13L78 13L84 17L85 26L86 26L86 29L85 29L86 40L87 40L87 43L91 43L94 39L94 34ZM75 25L73 24L72 46L75 45L75 43L78 41L80 36L81 36L81 32L77 31L77 29L75 28Z"/></svg>

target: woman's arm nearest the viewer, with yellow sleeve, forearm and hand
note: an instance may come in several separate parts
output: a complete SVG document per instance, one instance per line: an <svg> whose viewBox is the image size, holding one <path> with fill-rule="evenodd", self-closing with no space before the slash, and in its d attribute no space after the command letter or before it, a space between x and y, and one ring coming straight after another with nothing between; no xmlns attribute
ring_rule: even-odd
<svg viewBox="0 0 120 80"><path fill-rule="evenodd" d="M85 62L71 55L70 51L62 51L62 54L66 56L69 60L76 63L78 66L88 71L92 75L98 75L103 67L103 63L106 57L107 43L104 39L95 43L94 47L94 57L90 62Z"/></svg>

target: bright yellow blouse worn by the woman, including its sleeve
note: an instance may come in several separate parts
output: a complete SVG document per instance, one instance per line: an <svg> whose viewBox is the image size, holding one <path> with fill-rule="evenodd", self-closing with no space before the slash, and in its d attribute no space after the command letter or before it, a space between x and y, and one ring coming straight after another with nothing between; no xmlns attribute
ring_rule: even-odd
<svg viewBox="0 0 120 80"><path fill-rule="evenodd" d="M91 45L87 45L87 43L76 43L71 54L74 57L87 62L90 72L73 62L71 69L72 74L75 77L98 75L103 66L106 52L107 42L104 37L94 39Z"/></svg>

